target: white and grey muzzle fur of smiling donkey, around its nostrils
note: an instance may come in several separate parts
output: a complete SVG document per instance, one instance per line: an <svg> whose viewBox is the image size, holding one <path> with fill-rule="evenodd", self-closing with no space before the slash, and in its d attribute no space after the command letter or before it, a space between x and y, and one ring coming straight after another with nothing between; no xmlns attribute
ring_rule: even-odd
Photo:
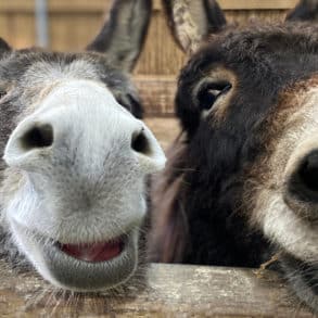
<svg viewBox="0 0 318 318"><path fill-rule="evenodd" d="M39 123L53 127L53 144L25 150L20 138ZM150 145L148 153L131 148L132 136L141 131ZM144 177L165 164L145 125L106 87L91 80L56 85L13 131L4 160L22 171L24 180L5 208L15 241L55 284L26 236L88 243L135 232L147 209Z"/></svg>

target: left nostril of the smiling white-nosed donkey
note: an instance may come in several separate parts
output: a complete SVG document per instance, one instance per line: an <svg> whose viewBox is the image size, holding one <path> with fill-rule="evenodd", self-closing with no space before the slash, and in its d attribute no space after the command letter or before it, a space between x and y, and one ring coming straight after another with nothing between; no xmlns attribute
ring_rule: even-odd
<svg viewBox="0 0 318 318"><path fill-rule="evenodd" d="M49 124L37 125L21 137L25 150L50 147L53 143L53 128Z"/></svg>

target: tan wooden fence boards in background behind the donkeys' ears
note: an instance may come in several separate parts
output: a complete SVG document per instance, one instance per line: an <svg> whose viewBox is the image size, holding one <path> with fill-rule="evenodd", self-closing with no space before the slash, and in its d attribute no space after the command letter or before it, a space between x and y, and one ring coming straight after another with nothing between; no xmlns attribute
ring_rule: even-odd
<svg viewBox="0 0 318 318"><path fill-rule="evenodd" d="M0 1L0 36L15 48L36 44L34 0ZM48 0L50 47L53 50L80 50L97 34L110 0ZM280 21L296 0L219 0L230 22L250 18ZM153 17L145 49L136 74L176 75L185 63L174 43L162 10L154 0Z"/></svg>

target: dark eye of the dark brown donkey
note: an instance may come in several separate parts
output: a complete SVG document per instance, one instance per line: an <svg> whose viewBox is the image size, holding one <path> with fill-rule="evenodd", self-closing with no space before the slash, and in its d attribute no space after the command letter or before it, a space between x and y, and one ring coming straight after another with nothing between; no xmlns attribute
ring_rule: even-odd
<svg viewBox="0 0 318 318"><path fill-rule="evenodd" d="M231 89L231 84L227 81L209 82L204 85L199 93L199 107L202 111L209 110L216 100Z"/></svg>

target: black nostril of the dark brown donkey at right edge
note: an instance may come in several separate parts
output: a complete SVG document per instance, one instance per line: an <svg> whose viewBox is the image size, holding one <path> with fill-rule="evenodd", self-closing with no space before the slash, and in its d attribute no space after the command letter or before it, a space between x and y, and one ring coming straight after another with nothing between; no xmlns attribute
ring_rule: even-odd
<svg viewBox="0 0 318 318"><path fill-rule="evenodd" d="M309 154L301 165L298 170L300 179L304 187L318 193L318 153Z"/></svg>

